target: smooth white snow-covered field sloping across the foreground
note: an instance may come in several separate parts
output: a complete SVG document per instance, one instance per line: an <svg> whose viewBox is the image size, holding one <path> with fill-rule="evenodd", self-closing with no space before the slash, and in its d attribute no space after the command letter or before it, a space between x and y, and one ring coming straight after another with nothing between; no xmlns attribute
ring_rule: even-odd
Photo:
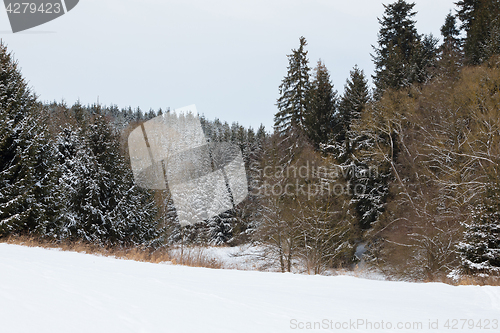
<svg viewBox="0 0 500 333"><path fill-rule="evenodd" d="M499 332L499 321L500 287L211 270L0 244L6 333Z"/></svg>

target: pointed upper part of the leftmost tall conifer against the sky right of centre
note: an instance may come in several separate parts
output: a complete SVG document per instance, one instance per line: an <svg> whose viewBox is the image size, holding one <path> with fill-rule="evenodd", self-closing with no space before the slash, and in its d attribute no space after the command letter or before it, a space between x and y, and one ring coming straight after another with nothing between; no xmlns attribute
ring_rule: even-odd
<svg viewBox="0 0 500 333"><path fill-rule="evenodd" d="M279 87L278 112L274 117L275 130L280 134L304 130L311 90L306 46L306 39L300 37L299 48L288 55L288 72Z"/></svg>

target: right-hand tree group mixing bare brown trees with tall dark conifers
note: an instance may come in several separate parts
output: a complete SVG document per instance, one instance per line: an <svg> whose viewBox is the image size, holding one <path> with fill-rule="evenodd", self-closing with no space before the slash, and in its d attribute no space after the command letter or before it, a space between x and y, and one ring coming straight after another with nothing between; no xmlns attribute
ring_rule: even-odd
<svg viewBox="0 0 500 333"><path fill-rule="evenodd" d="M335 91L304 37L288 56L258 239L283 271L362 258L389 276L498 276L500 3L459 1L441 43L413 3L384 7L373 90L355 66Z"/></svg>

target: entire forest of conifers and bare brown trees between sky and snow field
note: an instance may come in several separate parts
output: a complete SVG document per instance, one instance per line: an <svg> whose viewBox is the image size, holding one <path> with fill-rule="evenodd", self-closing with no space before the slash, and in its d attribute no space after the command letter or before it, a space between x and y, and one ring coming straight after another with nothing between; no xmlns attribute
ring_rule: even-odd
<svg viewBox="0 0 500 333"><path fill-rule="evenodd" d="M274 128L201 117L210 142L241 148L249 195L186 227L168 191L137 186L128 156L128 134L169 109L42 103L0 44L0 238L254 244L282 272L498 278L500 1L458 1L439 38L417 31L413 3L384 9L373 86L353 64L338 91L300 37Z"/></svg>

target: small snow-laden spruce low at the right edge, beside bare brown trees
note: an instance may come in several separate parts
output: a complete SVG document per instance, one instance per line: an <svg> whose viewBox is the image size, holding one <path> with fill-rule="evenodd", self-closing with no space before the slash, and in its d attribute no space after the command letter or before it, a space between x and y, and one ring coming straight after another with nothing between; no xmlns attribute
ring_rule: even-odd
<svg viewBox="0 0 500 333"><path fill-rule="evenodd" d="M500 185L490 183L483 202L465 223L465 239L458 245L466 274L500 275Z"/></svg>

